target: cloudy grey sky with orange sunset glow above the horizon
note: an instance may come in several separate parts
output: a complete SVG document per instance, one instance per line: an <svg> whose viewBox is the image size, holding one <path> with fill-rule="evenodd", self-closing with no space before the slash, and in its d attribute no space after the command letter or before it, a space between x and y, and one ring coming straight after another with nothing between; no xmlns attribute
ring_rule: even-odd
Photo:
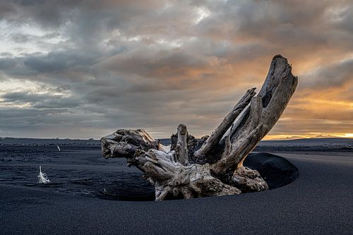
<svg viewBox="0 0 353 235"><path fill-rule="evenodd" d="M0 136L200 137L275 54L299 85L266 138L353 137L353 1L1 1Z"/></svg>

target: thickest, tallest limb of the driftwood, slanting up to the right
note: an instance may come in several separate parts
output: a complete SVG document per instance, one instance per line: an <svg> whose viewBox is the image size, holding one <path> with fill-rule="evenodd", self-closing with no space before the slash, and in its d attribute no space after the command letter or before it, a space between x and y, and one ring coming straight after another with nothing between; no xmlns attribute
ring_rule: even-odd
<svg viewBox="0 0 353 235"><path fill-rule="evenodd" d="M213 164L215 174L232 174L242 167L245 157L280 119L297 83L298 79L292 75L287 59L275 56L261 91L251 100L249 116L232 133L231 152Z"/></svg>

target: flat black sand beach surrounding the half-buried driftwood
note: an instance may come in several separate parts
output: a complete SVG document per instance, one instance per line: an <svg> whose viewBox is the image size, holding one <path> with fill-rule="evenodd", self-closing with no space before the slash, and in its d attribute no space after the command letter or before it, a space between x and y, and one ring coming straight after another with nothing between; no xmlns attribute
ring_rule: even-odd
<svg viewBox="0 0 353 235"><path fill-rule="evenodd" d="M280 153L300 172L287 186L155 203L104 200L104 188L123 200L153 188L123 160L102 159L94 140L0 147L0 234L353 233L353 154ZM36 183L39 165L52 183Z"/></svg>

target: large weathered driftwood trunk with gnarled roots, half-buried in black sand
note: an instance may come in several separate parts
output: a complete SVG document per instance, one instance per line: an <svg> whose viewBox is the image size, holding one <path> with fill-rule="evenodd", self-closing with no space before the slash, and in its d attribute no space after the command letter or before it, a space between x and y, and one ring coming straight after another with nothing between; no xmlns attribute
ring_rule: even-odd
<svg viewBox="0 0 353 235"><path fill-rule="evenodd" d="M200 198L268 189L246 156L270 131L297 87L287 59L277 55L257 96L248 90L210 136L199 140L184 124L168 147L139 130L118 130L101 139L103 157L125 157L155 186L155 200Z"/></svg>

